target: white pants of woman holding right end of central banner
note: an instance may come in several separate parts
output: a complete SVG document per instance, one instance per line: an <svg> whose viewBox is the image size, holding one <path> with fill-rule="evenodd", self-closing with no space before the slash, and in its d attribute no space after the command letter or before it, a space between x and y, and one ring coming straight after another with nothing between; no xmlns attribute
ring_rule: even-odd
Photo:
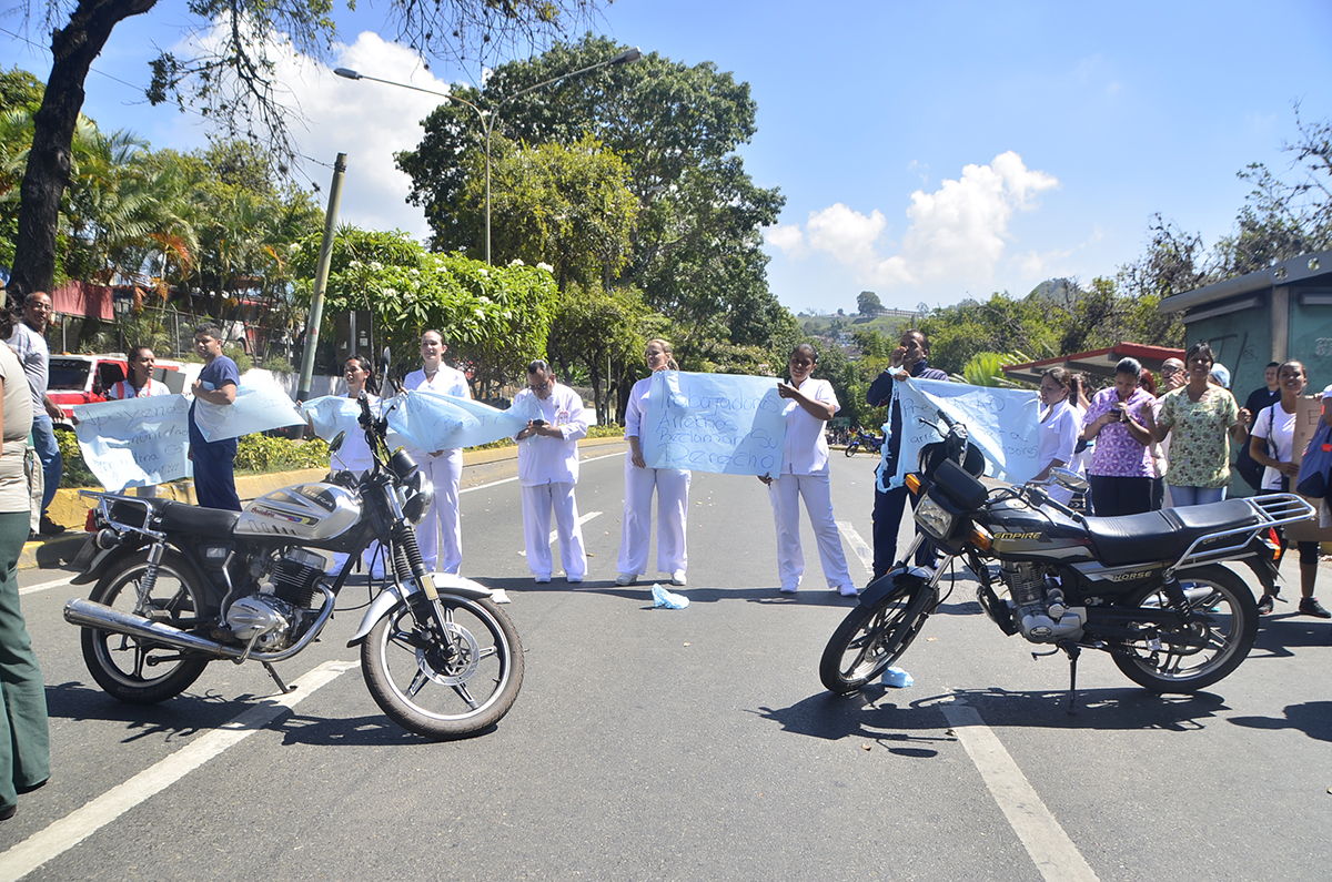
<svg viewBox="0 0 1332 882"><path fill-rule="evenodd" d="M777 574L782 588L799 588L805 576L805 554L801 552L801 505L814 526L819 541L819 562L823 565L823 578L829 588L854 585L846 569L846 553L842 550L842 537L832 521L832 485L826 474L781 474L767 485L767 497L773 501L773 518L777 521Z"/></svg>

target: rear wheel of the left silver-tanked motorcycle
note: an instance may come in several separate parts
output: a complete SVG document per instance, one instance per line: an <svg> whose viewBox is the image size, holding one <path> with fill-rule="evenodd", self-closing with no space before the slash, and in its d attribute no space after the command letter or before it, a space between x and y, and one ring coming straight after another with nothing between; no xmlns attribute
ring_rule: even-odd
<svg viewBox="0 0 1332 882"><path fill-rule="evenodd" d="M202 593L193 572L176 552L166 552L144 609L139 588L148 572L143 556L127 558L101 577L89 600L125 613L137 613L164 625L190 630L200 624ZM88 673L108 694L132 705L156 705L189 689L210 660L174 646L137 637L84 628L81 634ZM161 669L160 673L157 669Z"/></svg>

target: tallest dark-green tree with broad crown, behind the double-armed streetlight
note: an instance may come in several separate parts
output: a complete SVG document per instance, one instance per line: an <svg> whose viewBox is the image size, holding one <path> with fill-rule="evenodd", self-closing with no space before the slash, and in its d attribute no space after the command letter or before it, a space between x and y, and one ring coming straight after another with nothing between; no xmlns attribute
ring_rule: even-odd
<svg viewBox="0 0 1332 882"><path fill-rule="evenodd" d="M777 189L755 187L735 155L755 131L747 84L711 63L687 67L650 53L503 104L623 48L589 35L496 68L484 91L457 93L490 112L502 104L497 128L514 141L575 144L590 135L623 160L639 213L621 284L642 290L646 304L674 322L677 350L705 337L766 349L790 328L787 310L767 289L759 234L785 200ZM458 157L484 157L482 151L472 111L444 104L425 121L417 149L397 157L413 179L410 199L425 209L436 248L477 253L477 220L458 211L457 193L468 185Z"/></svg>

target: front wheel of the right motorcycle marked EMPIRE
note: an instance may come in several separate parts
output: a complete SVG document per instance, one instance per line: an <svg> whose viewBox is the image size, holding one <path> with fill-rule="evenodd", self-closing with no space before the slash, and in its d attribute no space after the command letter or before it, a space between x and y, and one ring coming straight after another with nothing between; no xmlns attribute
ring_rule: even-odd
<svg viewBox="0 0 1332 882"><path fill-rule="evenodd" d="M856 606L847 614L819 661L819 679L839 695L863 689L895 662L920 633L928 585L899 585L874 606Z"/></svg>

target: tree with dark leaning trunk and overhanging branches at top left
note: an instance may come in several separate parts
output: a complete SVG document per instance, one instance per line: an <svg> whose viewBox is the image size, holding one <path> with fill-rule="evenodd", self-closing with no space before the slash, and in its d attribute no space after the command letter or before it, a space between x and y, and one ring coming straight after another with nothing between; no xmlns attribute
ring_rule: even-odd
<svg viewBox="0 0 1332 882"><path fill-rule="evenodd" d="M29 0L25 20L53 25L51 77L33 116L32 152L21 184L16 254L11 286L25 294L51 288L56 264L60 201L71 180L71 145L84 100L84 80L125 20L151 12L157 0ZM530 45L582 24L597 0L390 0L385 13L398 43L430 57L472 57ZM220 24L216 40L200 55L163 52L152 63L145 95L153 104L197 108L222 132L262 141L278 156L294 153L281 105L276 57L286 45L324 57L337 25L329 0L201 0L189 12L200 23ZM488 52L489 49L489 52Z"/></svg>

